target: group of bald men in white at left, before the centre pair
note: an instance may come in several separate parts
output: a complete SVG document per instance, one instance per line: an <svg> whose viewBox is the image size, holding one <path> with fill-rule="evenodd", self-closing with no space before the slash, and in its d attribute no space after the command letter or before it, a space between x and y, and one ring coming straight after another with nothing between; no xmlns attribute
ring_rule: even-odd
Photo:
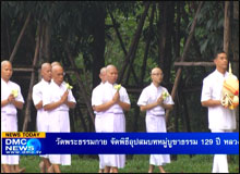
<svg viewBox="0 0 240 174"><path fill-rule="evenodd" d="M12 76L10 61L1 62L1 132L17 132L17 110L23 109L24 99ZM33 87L33 102L37 110L37 130L46 133L70 133L69 109L75 108L75 98L63 80L64 71L59 62L41 64L41 80ZM13 91L16 91L14 94ZM60 164L70 165L70 154L40 156L41 173L60 173ZM22 173L19 156L1 154L3 173Z"/></svg>

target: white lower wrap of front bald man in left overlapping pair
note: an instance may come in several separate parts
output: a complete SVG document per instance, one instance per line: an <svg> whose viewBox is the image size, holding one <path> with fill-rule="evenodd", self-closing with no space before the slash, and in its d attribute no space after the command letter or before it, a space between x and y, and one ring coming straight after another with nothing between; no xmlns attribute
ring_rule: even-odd
<svg viewBox="0 0 240 174"><path fill-rule="evenodd" d="M49 133L70 133L69 111L49 113ZM52 164L71 165L71 154L49 154Z"/></svg>

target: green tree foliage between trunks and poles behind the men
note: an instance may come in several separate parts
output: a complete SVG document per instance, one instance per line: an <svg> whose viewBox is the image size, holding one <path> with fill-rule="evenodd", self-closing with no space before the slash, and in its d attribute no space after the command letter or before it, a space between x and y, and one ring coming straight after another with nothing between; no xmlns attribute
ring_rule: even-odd
<svg viewBox="0 0 240 174"><path fill-rule="evenodd" d="M82 70L81 79L83 80L87 95L91 96L91 90L93 86L93 52L94 49L94 28L98 22L98 11L103 10L106 13L105 18L105 64L115 64L119 72L122 69L125 55L117 37L116 30L112 27L112 21L109 15L111 12L115 20L117 21L118 29L121 34L122 41L127 51L129 51L131 41L134 37L139 21L144 11L145 1L1 1L1 24L2 24L2 36L7 36L8 30L9 38L2 39L2 47L9 47L11 51L15 41L19 37L20 30L26 20L27 14L31 12L31 23L26 30L26 36L20 45L14 63L20 63L21 65L31 65L35 51L35 37L37 24L43 23L50 27L50 62L59 61L63 63L64 66L69 67L70 62L68 61L68 54L65 52L65 46L69 46L71 55L75 60L75 65ZM149 8L147 17L143 26L143 33L137 46L135 60L133 62L133 67L136 76L140 78L142 73L144 50L146 47L146 41L149 36L149 51L146 62L146 70L144 76L144 85L151 83L149 72L153 67L159 65L159 40L161 28L159 27L159 18L163 12L159 9L161 2L156 3L156 12L153 21L153 32L149 32L149 16L152 12L152 5ZM166 2L167 4L168 2ZM171 3L171 2L169 2ZM153 4L153 3L152 3ZM177 5L178 3L171 3ZM177 45L180 46L180 55L183 52L185 46L185 40L189 36L191 24L194 18L194 14L199 2L194 1L182 1L180 4L180 32L178 33L180 42L176 41L176 18L177 12L175 14L173 21L173 33L170 37L171 45L171 55L172 62L170 66L170 85L171 86L176 79L176 69L173 66L173 61L178 52L175 48ZM167 5L166 5L167 7ZM166 8L165 7L165 8ZM177 7L175 7L177 8ZM4 28L5 26L5 28ZM168 29L168 28L167 28ZM190 50L187 53L185 61L209 61L216 50L223 49L223 38L224 38L224 1L206 1L204 2L201 13L197 16L197 25L194 32L195 42L190 46ZM169 41L169 40L168 40ZM7 49L2 49L2 52L7 52ZM7 54L7 53L5 53ZM23 59L24 58L24 59ZM167 61L166 59L164 61ZM205 109L200 104L200 91L202 86L202 79L211 72L213 67L184 67L182 71L182 86L180 89L187 87L193 87L193 85L199 87L194 92L184 92L187 98L189 112L191 115L191 125L195 127L197 122L203 123L206 126L206 112ZM72 85L76 86L77 79L74 74L71 74ZM130 75L129 84L132 86L139 86L133 79L133 75ZM194 87L195 87L194 86ZM73 88L75 89L75 87ZM170 91L169 91L170 92ZM83 101L83 98L79 91L77 101ZM131 102L135 103L139 96L130 95ZM201 111L195 113L195 111ZM85 117L87 112L84 112ZM183 113L184 114L184 113ZM202 115L205 116L202 116ZM127 129L131 129L134 124L134 109L128 113L128 125ZM144 113L140 114L137 125L140 125L140 130L144 130ZM87 119L86 119L87 120ZM173 123L170 123L173 125ZM183 127L183 123L181 123ZM203 126L203 127L204 127ZM200 127L200 129L204 129ZM184 127L183 127L184 128ZM199 129L194 129L199 130Z"/></svg>

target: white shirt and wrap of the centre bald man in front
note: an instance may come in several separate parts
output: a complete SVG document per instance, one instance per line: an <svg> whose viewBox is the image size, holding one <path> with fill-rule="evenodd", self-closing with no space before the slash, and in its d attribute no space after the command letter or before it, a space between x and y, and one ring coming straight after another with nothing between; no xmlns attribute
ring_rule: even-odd
<svg viewBox="0 0 240 174"><path fill-rule="evenodd" d="M112 99L116 94L113 85L106 82L99 92L96 92L92 105L100 105ZM124 87L119 90L120 100L129 103L129 96ZM119 104L115 104L105 112L98 113L100 116L100 132L101 133L124 133L125 132L125 117L122 108ZM125 154L103 154L103 166L116 166L118 169L124 167Z"/></svg>

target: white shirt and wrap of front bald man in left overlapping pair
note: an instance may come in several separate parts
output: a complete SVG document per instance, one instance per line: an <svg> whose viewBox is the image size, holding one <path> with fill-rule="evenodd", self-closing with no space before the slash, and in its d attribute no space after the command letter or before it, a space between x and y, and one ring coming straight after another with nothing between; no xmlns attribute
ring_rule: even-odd
<svg viewBox="0 0 240 174"><path fill-rule="evenodd" d="M64 83L59 86L51 80L49 89L44 91L43 105L59 101L65 90ZM68 101L76 102L71 90L69 91ZM67 104L61 104L48 111L48 115L50 133L70 133L69 107ZM49 160L52 164L71 165L71 154L49 154Z"/></svg>

